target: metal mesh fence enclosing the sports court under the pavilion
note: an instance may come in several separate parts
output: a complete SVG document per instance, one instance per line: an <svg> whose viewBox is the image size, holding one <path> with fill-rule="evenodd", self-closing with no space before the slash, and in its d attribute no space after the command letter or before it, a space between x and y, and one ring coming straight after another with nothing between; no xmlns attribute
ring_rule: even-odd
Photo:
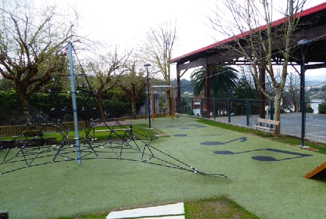
<svg viewBox="0 0 326 219"><path fill-rule="evenodd" d="M260 109L261 101L264 109ZM207 113L210 113L209 117L213 120L240 126L255 125L260 111L265 113L265 118L274 120L275 117L274 103L270 100L182 97L181 106L183 114L207 118ZM301 137L301 118L300 104L282 102L281 134ZM305 103L304 124L304 138L326 143L326 104Z"/></svg>

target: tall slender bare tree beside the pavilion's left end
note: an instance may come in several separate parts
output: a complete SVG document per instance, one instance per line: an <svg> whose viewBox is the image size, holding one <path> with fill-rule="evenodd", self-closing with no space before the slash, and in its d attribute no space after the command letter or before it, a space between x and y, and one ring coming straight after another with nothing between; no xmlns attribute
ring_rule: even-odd
<svg viewBox="0 0 326 219"><path fill-rule="evenodd" d="M154 67L161 73L165 85L171 85L171 58L175 42L177 41L176 22L165 21L164 23L157 24L155 27L150 27L146 33L145 51L146 59L154 65ZM167 112L171 112L171 89L167 88Z"/></svg>

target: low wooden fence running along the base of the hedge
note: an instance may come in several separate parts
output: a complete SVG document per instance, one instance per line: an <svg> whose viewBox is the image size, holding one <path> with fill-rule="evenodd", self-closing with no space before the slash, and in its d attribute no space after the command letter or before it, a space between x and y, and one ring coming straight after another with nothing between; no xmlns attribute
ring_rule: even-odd
<svg viewBox="0 0 326 219"><path fill-rule="evenodd" d="M155 114L155 118L161 118L167 116L168 113L159 113ZM148 115L137 115L136 120L141 120L148 118ZM134 120L135 118L133 116L130 117L120 117L120 118L115 118L117 121L125 121L125 120ZM85 129L89 126L89 123L86 121L78 121L78 127L79 129ZM26 129L26 125L17 125L17 126L0 126L0 136L1 137L7 137L7 136L15 136L18 135L19 133L22 133ZM54 123L48 123L46 126L43 125L36 125L36 128L38 130L42 129L43 132L53 132L57 131L58 129L60 130L74 130L74 122L63 122L60 127L57 128L57 124Z"/></svg>

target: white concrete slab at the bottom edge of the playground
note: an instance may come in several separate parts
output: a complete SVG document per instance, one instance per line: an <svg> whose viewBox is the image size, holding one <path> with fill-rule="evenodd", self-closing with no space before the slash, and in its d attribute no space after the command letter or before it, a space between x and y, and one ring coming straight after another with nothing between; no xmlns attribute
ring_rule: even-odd
<svg viewBox="0 0 326 219"><path fill-rule="evenodd" d="M149 208L137 208L131 210L124 210L124 211L113 211L109 213L106 219L178 215L178 214L185 214L184 203L162 205L162 206L149 207Z"/></svg>

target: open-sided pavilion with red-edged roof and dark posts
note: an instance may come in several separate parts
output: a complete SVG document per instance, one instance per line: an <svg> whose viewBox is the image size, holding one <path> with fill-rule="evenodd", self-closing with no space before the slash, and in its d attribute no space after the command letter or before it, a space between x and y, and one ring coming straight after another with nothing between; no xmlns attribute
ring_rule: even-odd
<svg viewBox="0 0 326 219"><path fill-rule="evenodd" d="M286 19L281 18L271 23L272 28L277 29ZM266 31L267 26L261 26L257 28L258 31ZM181 55L171 59L171 63L176 63L177 68L177 99L180 102L180 71L188 70L191 68L205 66L206 68L206 98L210 98L210 81L209 81L209 69L212 64L228 64L228 65L249 65L250 62L243 58L243 55L230 51L230 45L234 45L235 39L241 39L249 36L249 32L244 32L236 36L224 39L223 41L216 42L206 47L200 48L193 52ZM296 29L292 38L292 45L298 45L298 42L302 39L308 39L310 41L305 53L304 67L302 64L302 53L300 49L294 49L289 59L289 65L300 65L300 94L302 95L304 74L302 70L317 69L326 67L326 3L322 3L315 7L303 10L299 19L298 29ZM229 46L229 47L228 47ZM297 47L296 47L297 48ZM284 47L276 46L273 48L272 60L273 65L282 65L283 57L279 51ZM260 57L261 53L260 53ZM311 63L311 64L309 64ZM259 83L264 88L266 71L259 67ZM266 97L259 91L259 99L264 100ZM300 98L302 99L302 98ZM178 105L180 103L177 103ZM210 117L210 103L207 101L207 117ZM180 109L181 107L178 107ZM264 102L260 102L259 115L261 118L265 117Z"/></svg>

